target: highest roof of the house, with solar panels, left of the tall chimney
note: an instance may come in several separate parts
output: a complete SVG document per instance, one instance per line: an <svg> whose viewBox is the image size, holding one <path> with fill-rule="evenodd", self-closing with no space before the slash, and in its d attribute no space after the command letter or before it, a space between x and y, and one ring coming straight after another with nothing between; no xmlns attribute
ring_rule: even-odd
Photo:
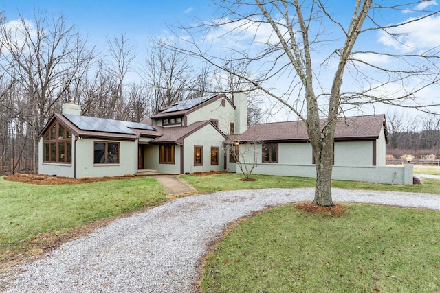
<svg viewBox="0 0 440 293"><path fill-rule="evenodd" d="M194 110L197 110L197 108L217 101L217 99L221 97L225 97L226 100L230 102L230 99L228 99L228 97L226 97L226 95L224 94L206 95L204 97L195 97L194 99L185 99L184 101L176 102L174 104L171 104L170 106L167 106L166 108L159 110L159 113L151 117L151 119L161 119L171 116L184 116ZM230 102L230 104L234 107L232 102Z"/></svg>

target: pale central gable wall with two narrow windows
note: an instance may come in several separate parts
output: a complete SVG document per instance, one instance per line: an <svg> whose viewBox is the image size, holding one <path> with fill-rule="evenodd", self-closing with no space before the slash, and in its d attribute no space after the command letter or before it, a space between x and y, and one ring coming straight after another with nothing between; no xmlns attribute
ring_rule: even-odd
<svg viewBox="0 0 440 293"><path fill-rule="evenodd" d="M225 138L211 124L197 130L184 139L184 173L207 172L211 170L223 171ZM194 165L194 146L203 146L203 165ZM211 147L219 148L219 165L211 165Z"/></svg>

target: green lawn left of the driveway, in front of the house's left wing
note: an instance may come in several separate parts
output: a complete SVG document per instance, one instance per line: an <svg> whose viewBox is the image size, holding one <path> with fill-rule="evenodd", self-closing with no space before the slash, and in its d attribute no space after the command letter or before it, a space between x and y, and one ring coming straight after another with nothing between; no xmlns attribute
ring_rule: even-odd
<svg viewBox="0 0 440 293"><path fill-rule="evenodd" d="M32 185L0 178L0 255L56 233L114 218L166 198L153 178L76 185Z"/></svg>

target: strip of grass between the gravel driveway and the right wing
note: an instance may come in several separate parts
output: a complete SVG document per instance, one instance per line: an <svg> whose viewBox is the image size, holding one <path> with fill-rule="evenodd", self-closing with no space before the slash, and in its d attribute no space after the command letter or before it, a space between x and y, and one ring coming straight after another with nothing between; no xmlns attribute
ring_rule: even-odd
<svg viewBox="0 0 440 293"><path fill-rule="evenodd" d="M315 187L314 178L269 175L252 175L251 177L257 180L241 181L240 179L243 178L243 174L235 173L222 173L210 176L183 175L180 178L201 192L237 189ZM423 179L421 185L389 185L379 183L364 183L358 181L333 180L332 186L342 189L367 189L440 194L440 180L430 178Z"/></svg>

